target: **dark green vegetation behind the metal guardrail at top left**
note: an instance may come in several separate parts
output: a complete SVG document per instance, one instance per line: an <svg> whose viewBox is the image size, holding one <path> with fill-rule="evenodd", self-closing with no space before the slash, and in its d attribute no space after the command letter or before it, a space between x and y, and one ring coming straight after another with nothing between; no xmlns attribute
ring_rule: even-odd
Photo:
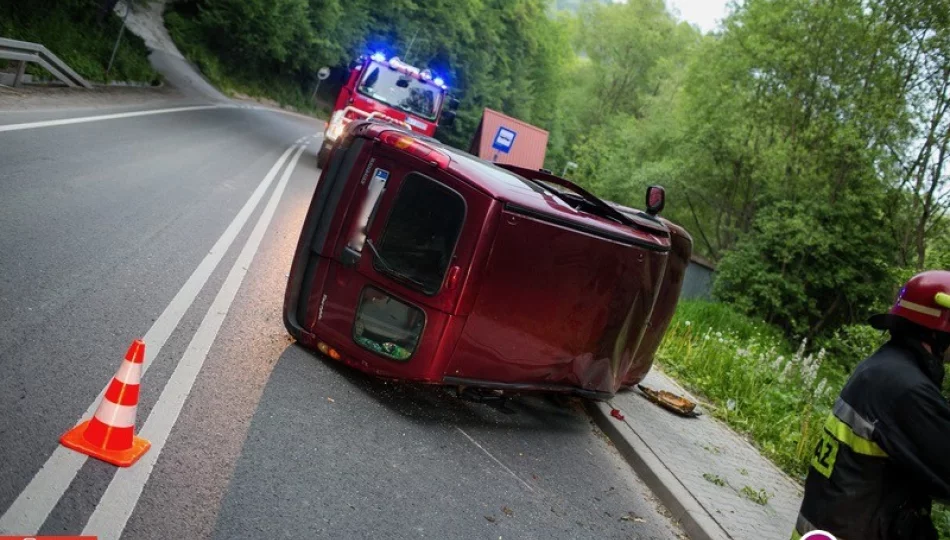
<svg viewBox="0 0 950 540"><path fill-rule="evenodd" d="M157 84L161 79L148 63L145 43L128 31L122 37L112 71L106 75L121 26L115 14L103 11L102 0L0 2L0 37L45 45L91 82ZM44 80L52 78L32 64L27 73Z"/></svg>

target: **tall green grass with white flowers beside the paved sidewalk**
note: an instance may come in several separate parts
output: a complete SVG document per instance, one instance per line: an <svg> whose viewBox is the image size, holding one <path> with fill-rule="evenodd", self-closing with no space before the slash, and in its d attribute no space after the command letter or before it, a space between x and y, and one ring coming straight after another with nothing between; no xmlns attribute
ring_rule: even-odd
<svg viewBox="0 0 950 540"><path fill-rule="evenodd" d="M870 354L879 336L852 343ZM657 361L669 375L712 405L710 413L747 435L763 455L799 482L811 461L846 375L843 362L824 349L807 353L805 343L789 343L775 328L725 304L684 301L677 307ZM850 360L849 360L850 361ZM715 475L703 475L718 484ZM721 480L721 479L719 479ZM769 494L745 486L740 493L767 504ZM941 540L950 540L950 512L934 505Z"/></svg>

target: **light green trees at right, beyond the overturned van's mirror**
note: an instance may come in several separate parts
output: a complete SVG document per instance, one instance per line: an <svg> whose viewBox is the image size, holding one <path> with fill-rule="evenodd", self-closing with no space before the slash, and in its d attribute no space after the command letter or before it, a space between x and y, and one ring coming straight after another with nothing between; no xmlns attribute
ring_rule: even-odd
<svg viewBox="0 0 950 540"><path fill-rule="evenodd" d="M593 12L619 25L650 6ZM946 260L928 250L945 223L947 21L946 2L748 0L692 40L591 22L609 41L587 49L604 81L601 51L625 42L660 67L633 65L637 84L562 159L619 202L666 185L668 214L720 262L719 298L792 335L833 335Z"/></svg>

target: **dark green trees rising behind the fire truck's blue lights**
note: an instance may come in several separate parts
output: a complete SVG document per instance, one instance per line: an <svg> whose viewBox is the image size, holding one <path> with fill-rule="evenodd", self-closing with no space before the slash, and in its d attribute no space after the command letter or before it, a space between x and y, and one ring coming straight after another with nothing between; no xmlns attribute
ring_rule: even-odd
<svg viewBox="0 0 950 540"><path fill-rule="evenodd" d="M189 0L174 9L238 74L309 86L321 66L376 50L429 67L461 99L456 126L440 137L462 147L484 107L550 126L573 55L545 0Z"/></svg>

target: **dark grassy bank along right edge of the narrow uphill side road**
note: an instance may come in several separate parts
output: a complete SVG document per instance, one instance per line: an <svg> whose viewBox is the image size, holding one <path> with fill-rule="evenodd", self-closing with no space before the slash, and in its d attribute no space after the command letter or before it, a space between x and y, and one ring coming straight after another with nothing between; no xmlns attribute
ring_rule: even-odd
<svg viewBox="0 0 950 540"><path fill-rule="evenodd" d="M175 45L188 60L222 93L231 97L250 97L275 105L329 118L327 107L314 104L310 93L290 78L242 73L205 45L204 35L195 21L176 11L165 13L165 26Z"/></svg>

